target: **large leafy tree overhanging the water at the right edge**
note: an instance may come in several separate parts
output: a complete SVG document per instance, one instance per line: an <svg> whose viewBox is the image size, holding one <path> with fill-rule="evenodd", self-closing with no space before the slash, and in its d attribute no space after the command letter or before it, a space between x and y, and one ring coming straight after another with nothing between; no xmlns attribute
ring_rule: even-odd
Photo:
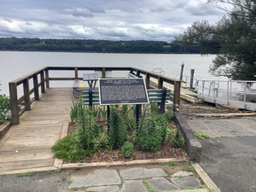
<svg viewBox="0 0 256 192"><path fill-rule="evenodd" d="M188 30L173 41L174 44L188 46L198 44L201 54L218 54L212 61L209 72L226 76L233 80L256 80L254 0L208 0L208 3L223 3L224 15L215 24L207 20L195 21Z"/></svg>

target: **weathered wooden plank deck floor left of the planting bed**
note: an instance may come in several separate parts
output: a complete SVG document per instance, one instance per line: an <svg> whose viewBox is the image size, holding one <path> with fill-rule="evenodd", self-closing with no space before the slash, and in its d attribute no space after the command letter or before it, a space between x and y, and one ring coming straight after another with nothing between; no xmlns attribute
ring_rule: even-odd
<svg viewBox="0 0 256 192"><path fill-rule="evenodd" d="M0 140L0 174L55 170L51 147L67 135L72 88L50 88ZM66 122L66 123L65 123Z"/></svg>

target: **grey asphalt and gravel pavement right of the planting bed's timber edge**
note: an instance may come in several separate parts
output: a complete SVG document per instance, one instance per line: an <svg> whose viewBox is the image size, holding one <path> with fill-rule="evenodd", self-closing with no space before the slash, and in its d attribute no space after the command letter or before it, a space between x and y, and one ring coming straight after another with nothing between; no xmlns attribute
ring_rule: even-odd
<svg viewBox="0 0 256 192"><path fill-rule="evenodd" d="M191 119L193 131L208 134L200 165L222 192L256 191L256 118ZM217 137L217 138L216 138Z"/></svg>

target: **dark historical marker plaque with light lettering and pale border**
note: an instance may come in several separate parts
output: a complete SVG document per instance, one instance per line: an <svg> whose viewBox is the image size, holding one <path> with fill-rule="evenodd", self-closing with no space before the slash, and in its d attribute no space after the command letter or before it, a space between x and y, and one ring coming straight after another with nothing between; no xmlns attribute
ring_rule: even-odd
<svg viewBox="0 0 256 192"><path fill-rule="evenodd" d="M144 104L148 94L144 79L99 79L100 104Z"/></svg>

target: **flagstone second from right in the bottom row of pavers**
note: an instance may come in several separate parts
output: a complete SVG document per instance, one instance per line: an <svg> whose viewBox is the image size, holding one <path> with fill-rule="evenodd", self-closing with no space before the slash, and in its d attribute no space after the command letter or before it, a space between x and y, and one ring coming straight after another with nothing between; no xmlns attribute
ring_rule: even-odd
<svg viewBox="0 0 256 192"><path fill-rule="evenodd" d="M148 183L152 187L154 187L154 189L157 189L160 191L180 189L176 185L168 182L166 178L163 178L163 177L150 178L148 179Z"/></svg>

